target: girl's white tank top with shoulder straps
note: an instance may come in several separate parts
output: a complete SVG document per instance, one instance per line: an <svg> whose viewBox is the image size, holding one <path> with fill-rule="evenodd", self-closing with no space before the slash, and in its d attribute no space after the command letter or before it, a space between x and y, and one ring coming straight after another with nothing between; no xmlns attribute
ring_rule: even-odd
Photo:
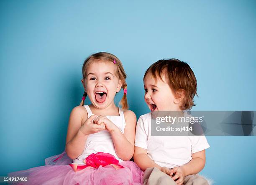
<svg viewBox="0 0 256 185"><path fill-rule="evenodd" d="M92 111L88 105L84 105L85 109L87 110L88 117L90 117L92 114ZM119 116L106 116L108 119L110 119L111 122L113 122L122 133L124 133L125 129L125 117L123 114L123 110L119 108ZM90 134L87 138L87 141L84 146L84 151L81 155L77 157L77 159L73 160L73 164L84 164L84 159L88 157L92 153L97 152L105 152L110 153L115 156L119 162L123 162L117 154L115 153L115 147L114 143L111 139L110 133L107 130L102 130L100 132L97 132L95 134Z"/></svg>

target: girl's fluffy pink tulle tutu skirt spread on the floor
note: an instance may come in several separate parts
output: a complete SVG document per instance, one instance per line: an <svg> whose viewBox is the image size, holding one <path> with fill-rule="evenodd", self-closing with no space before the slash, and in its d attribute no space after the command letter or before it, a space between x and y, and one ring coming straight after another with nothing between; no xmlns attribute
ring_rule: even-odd
<svg viewBox="0 0 256 185"><path fill-rule="evenodd" d="M46 158L45 163L46 166L11 172L8 177L28 177L27 182L13 183L18 185L141 185L141 170L132 161L120 162L118 165L123 167L119 169L100 165L74 172L69 165L72 160L64 151Z"/></svg>

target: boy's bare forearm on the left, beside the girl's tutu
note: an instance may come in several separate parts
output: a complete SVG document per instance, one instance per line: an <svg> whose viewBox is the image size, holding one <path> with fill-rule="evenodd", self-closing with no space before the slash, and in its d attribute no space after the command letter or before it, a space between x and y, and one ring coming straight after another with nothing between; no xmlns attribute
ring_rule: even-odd
<svg viewBox="0 0 256 185"><path fill-rule="evenodd" d="M161 166L157 165L153 160L151 160L147 155L147 150L141 147L136 147L133 155L134 162L145 171L149 167L157 167L161 170Z"/></svg>

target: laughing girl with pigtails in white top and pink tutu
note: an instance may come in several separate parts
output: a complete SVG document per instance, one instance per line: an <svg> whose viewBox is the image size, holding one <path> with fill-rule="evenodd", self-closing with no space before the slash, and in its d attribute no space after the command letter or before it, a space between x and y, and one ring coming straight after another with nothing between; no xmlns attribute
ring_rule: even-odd
<svg viewBox="0 0 256 185"><path fill-rule="evenodd" d="M65 151L47 158L46 166L9 177L28 177L24 184L33 185L141 184L140 168L128 161L134 152L136 116L127 110L122 63L113 54L96 53L84 61L82 76L84 95L70 114ZM121 88L122 109L114 103ZM84 105L87 96L89 106Z"/></svg>

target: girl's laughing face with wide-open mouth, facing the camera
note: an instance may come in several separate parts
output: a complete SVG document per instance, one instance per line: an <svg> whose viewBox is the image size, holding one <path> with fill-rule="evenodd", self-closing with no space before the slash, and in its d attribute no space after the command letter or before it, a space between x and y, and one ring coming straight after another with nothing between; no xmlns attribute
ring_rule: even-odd
<svg viewBox="0 0 256 185"><path fill-rule="evenodd" d="M87 68L84 90L98 109L114 105L115 94L122 87L114 65L113 62L95 60Z"/></svg>

